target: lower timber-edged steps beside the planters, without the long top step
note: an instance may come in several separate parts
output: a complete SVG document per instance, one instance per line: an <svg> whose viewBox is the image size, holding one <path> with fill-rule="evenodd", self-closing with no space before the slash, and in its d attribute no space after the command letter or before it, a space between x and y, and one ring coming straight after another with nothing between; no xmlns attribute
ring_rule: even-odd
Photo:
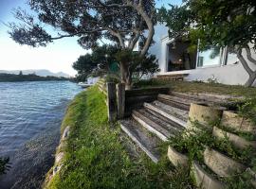
<svg viewBox="0 0 256 189"><path fill-rule="evenodd" d="M168 141L186 128L188 111L155 100L133 110L132 116L120 121L121 129L157 163L157 144Z"/></svg>

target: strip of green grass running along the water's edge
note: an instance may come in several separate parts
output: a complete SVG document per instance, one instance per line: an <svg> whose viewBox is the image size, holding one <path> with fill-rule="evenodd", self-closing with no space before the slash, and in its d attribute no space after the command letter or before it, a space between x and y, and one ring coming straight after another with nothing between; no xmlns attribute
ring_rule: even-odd
<svg viewBox="0 0 256 189"><path fill-rule="evenodd" d="M71 127L64 165L47 188L192 188L187 172L174 170L167 158L155 164L142 152L132 157L106 113L96 87L75 97L62 126Z"/></svg>

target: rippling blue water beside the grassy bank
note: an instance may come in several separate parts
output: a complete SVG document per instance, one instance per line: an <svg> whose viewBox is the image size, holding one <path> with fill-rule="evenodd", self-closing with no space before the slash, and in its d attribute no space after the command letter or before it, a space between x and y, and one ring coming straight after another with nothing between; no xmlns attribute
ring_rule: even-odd
<svg viewBox="0 0 256 189"><path fill-rule="evenodd" d="M15 169L24 167L17 168L18 164L42 165L47 159L44 150L47 156L54 153L66 106L81 91L69 81L0 82L0 157L9 156L12 163L2 178L9 184L6 188L21 177Z"/></svg>

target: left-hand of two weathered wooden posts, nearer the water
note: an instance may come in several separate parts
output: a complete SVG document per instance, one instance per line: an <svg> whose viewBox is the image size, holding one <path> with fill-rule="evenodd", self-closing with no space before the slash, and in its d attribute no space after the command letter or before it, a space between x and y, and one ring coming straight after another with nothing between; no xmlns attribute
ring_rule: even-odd
<svg viewBox="0 0 256 189"><path fill-rule="evenodd" d="M108 121L115 121L117 119L117 89L114 82L107 83L107 109Z"/></svg>

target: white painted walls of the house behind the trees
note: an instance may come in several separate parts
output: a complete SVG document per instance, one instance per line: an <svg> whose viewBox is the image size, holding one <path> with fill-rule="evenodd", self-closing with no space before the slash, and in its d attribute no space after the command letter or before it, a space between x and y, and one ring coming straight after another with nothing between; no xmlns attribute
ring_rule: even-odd
<svg viewBox="0 0 256 189"><path fill-rule="evenodd" d="M209 78L214 78L219 83L230 85L244 85L247 81L248 74L238 59L236 59L234 56L230 56L233 61L224 62L225 50L227 49L224 49L224 53L220 56L220 60L217 64L207 65L208 63L205 62L206 65L198 67L199 52L197 52L195 69L168 72L168 56L172 56L168 55L169 44L174 42L173 39L168 37L168 28L165 26L155 26L154 41L155 44L150 48L149 53L156 56L160 68L160 72L158 74L160 75L169 73L189 74L188 77L185 77L185 80L202 80L207 82ZM251 53L252 58L256 59L256 54L253 49L251 49ZM243 55L247 60L247 54L245 50L243 51ZM253 70L256 70L256 65L251 62L249 62L249 67ZM256 86L256 83L254 83L254 86Z"/></svg>

